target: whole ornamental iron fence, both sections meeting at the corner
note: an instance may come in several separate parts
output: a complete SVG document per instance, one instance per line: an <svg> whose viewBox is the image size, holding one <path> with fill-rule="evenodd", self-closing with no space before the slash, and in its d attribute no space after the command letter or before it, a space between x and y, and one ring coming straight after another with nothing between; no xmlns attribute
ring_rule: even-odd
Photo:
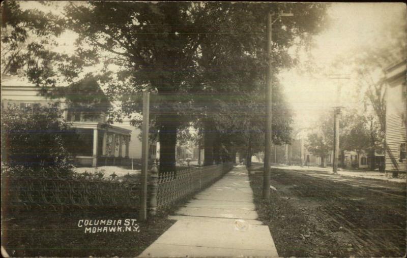
<svg viewBox="0 0 407 258"><path fill-rule="evenodd" d="M155 165L154 165L155 166ZM154 167L153 166L153 167ZM174 172L150 171L149 210L157 210L187 198L211 185L229 172L233 163L206 167L190 167ZM62 177L57 172L2 174L3 207L26 209L64 208L124 208L138 209L141 185L138 178L129 176L114 180L89 177Z"/></svg>

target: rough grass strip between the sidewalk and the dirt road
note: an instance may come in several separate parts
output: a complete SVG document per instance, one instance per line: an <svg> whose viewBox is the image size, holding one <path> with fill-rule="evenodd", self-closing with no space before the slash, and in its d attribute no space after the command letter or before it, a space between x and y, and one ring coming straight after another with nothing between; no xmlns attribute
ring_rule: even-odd
<svg viewBox="0 0 407 258"><path fill-rule="evenodd" d="M262 200L263 174L250 175L254 203L261 220L268 225L280 256L350 256L326 228L324 221L315 216L315 207L300 207L283 193L271 192L268 201ZM351 247L350 247L351 248Z"/></svg>

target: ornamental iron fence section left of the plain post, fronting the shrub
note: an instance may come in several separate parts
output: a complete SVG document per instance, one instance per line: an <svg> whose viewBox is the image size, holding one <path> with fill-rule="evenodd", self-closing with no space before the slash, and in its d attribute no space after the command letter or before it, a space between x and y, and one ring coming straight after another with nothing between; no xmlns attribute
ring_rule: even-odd
<svg viewBox="0 0 407 258"><path fill-rule="evenodd" d="M2 175L4 199L10 207L48 208L137 208L139 183L126 178L62 178L49 174Z"/></svg>

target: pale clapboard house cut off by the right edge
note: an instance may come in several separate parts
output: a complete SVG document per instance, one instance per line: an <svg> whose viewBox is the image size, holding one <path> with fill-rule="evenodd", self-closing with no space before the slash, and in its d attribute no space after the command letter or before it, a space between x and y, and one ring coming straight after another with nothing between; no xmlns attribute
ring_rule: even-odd
<svg viewBox="0 0 407 258"><path fill-rule="evenodd" d="M406 173L406 84L407 60L386 70L386 171Z"/></svg>

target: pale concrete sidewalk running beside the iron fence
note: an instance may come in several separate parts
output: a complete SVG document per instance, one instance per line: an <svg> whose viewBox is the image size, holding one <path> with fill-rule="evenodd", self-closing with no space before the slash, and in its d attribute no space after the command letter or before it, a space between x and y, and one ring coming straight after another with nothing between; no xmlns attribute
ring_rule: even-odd
<svg viewBox="0 0 407 258"><path fill-rule="evenodd" d="M277 257L257 219L244 166L237 166L170 216L178 220L139 257Z"/></svg>

